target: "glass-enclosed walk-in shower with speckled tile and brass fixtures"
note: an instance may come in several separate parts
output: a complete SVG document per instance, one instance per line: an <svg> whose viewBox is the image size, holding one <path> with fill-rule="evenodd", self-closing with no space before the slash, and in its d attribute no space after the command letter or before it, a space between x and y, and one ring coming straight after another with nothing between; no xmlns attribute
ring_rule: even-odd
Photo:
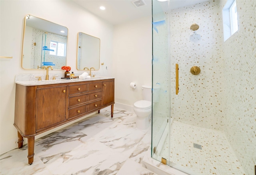
<svg viewBox="0 0 256 175"><path fill-rule="evenodd" d="M224 41L234 2L238 31ZM252 0L152 0L153 159L189 175L255 173L255 12Z"/></svg>

